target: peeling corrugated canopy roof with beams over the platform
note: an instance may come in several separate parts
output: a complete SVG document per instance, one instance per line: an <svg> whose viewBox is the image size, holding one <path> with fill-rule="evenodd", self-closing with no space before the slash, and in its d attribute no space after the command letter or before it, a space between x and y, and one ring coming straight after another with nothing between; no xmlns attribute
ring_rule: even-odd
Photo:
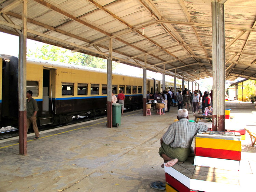
<svg viewBox="0 0 256 192"><path fill-rule="evenodd" d="M0 0L0 31L17 35L21 2ZM226 79L256 79L256 0L224 7ZM30 39L98 57L109 53L112 38L114 61L143 67L146 54L148 70L212 76L211 0L28 0L28 29Z"/></svg>

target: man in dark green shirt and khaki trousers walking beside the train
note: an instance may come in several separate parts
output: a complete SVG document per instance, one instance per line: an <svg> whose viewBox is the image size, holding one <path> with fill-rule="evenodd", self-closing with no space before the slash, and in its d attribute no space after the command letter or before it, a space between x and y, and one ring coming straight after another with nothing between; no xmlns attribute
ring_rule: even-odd
<svg viewBox="0 0 256 192"><path fill-rule="evenodd" d="M38 106L37 101L35 101L34 98L32 98L33 92L28 90L27 91L27 132L30 127L30 124L32 123L33 130L35 132L34 139L39 138L39 131L37 127L37 112L38 112Z"/></svg>

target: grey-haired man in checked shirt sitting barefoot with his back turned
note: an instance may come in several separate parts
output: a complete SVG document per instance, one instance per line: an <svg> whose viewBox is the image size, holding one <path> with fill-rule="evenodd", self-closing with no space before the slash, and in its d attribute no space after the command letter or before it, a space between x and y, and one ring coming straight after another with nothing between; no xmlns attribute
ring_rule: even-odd
<svg viewBox="0 0 256 192"><path fill-rule="evenodd" d="M185 161L190 150L194 153L191 148L194 136L199 132L209 131L206 125L188 121L187 109L179 109L177 119L179 121L172 123L160 139L159 154L167 167L178 161Z"/></svg>

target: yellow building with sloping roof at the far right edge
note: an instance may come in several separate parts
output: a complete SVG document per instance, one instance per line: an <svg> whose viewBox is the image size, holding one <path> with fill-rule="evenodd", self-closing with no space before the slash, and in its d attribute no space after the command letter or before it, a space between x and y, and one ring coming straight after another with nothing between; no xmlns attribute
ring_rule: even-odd
<svg viewBox="0 0 256 192"><path fill-rule="evenodd" d="M236 86L236 97L238 101L248 101L247 85L249 88L252 88L252 94L256 95L256 85L254 80L244 79L231 84L231 86Z"/></svg>

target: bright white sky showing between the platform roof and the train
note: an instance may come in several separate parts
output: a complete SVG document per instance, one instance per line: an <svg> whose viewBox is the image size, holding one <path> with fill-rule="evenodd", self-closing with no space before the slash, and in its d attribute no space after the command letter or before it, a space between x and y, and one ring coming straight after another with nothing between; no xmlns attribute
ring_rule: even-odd
<svg viewBox="0 0 256 192"><path fill-rule="evenodd" d="M19 50L18 36L0 32L0 40L1 40L0 54L18 56L18 50ZM33 50L33 49L36 49L37 47L41 47L43 45L44 45L44 43L27 39L27 50L29 50L29 49ZM142 69L137 68L137 67L131 67L131 66L125 65L125 64L120 64L119 67L115 70L115 72L122 73L122 74L128 74L128 75L132 74L134 76L143 76ZM162 79L162 74L151 72L151 71L147 71L147 76L153 77L155 79ZM166 75L165 80L173 81L173 77ZM212 85L212 78L204 79L204 81L207 81L207 83ZM185 84L186 83L187 82L185 82ZM190 86L192 86L191 83L190 83Z"/></svg>

